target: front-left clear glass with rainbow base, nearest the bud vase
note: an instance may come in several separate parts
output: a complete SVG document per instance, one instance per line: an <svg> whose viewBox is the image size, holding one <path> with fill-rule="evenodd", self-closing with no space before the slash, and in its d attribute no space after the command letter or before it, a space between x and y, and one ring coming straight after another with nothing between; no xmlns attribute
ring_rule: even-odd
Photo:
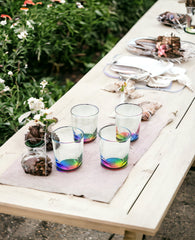
<svg viewBox="0 0 195 240"><path fill-rule="evenodd" d="M82 164L83 131L72 126L57 128L51 133L58 171L75 170Z"/></svg>

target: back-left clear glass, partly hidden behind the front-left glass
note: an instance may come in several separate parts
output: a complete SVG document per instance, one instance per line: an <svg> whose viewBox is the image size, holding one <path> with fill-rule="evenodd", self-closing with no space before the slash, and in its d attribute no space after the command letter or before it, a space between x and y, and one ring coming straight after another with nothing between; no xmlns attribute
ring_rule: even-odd
<svg viewBox="0 0 195 240"><path fill-rule="evenodd" d="M98 107L92 104L78 104L71 108L72 125L83 130L84 143L96 139L98 113Z"/></svg>

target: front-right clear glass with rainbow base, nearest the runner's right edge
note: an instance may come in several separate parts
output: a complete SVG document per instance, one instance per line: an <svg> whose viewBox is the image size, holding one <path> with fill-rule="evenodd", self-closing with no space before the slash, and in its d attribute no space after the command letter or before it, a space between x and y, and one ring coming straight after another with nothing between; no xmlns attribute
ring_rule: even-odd
<svg viewBox="0 0 195 240"><path fill-rule="evenodd" d="M119 169L127 165L131 132L124 127L106 125L99 130L101 165Z"/></svg>

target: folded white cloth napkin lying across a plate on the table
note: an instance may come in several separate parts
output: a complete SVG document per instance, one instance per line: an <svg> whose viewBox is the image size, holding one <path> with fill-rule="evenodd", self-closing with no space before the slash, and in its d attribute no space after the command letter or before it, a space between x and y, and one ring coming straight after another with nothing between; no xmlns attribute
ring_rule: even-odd
<svg viewBox="0 0 195 240"><path fill-rule="evenodd" d="M131 71L134 68L134 73L129 74L128 68ZM140 69L145 71L145 73L141 72ZM191 80L187 76L186 70L175 66L171 62L141 56L121 56L113 63L111 70L119 73L124 79L146 82L149 87L168 87L171 82L177 81L193 91Z"/></svg>

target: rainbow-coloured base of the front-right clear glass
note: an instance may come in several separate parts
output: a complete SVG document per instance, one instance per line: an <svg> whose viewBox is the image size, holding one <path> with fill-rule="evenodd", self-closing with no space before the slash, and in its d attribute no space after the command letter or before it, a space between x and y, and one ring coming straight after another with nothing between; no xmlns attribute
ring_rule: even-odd
<svg viewBox="0 0 195 240"><path fill-rule="evenodd" d="M120 169L127 165L128 162L128 155L124 158L107 158L105 159L103 156L101 158L101 165L105 168L109 169Z"/></svg>

